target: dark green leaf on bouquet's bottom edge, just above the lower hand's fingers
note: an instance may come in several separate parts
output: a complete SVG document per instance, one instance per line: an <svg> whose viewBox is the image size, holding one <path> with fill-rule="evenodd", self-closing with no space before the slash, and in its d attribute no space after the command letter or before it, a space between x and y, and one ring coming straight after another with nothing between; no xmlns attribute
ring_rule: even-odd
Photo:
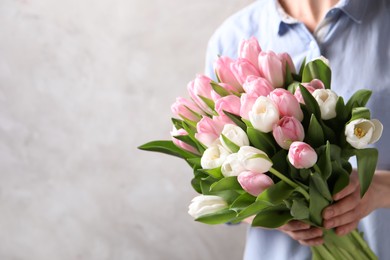
<svg viewBox="0 0 390 260"><path fill-rule="evenodd" d="M278 228L292 219L290 210L286 206L272 206L260 211L253 219L252 226Z"/></svg>

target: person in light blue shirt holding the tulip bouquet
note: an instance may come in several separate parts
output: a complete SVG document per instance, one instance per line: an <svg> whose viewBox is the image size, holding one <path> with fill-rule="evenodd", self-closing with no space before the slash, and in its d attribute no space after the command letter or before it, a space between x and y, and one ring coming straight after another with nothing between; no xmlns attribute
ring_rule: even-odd
<svg viewBox="0 0 390 260"><path fill-rule="evenodd" d="M320 55L330 60L332 89L345 99L372 89L368 106L384 125L377 143L379 161L373 183L361 199L355 173L348 187L323 211L324 226L339 235L359 223L379 259L390 256L390 3L386 0L259 0L239 11L210 39L206 72L213 75L217 55L235 58L242 39L255 36L263 51L288 52L296 66ZM292 239L291 239L292 238ZM320 229L293 221L279 230L249 228L244 259L310 259L301 245L323 243ZM300 245L301 244L301 245Z"/></svg>

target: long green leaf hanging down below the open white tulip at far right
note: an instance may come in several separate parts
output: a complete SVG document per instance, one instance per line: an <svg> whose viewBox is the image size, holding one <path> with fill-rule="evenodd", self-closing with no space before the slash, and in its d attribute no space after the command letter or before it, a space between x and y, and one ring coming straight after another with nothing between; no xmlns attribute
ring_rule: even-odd
<svg viewBox="0 0 390 260"><path fill-rule="evenodd" d="M375 148L356 149L357 168L360 181L360 196L368 190L378 162L378 150Z"/></svg>

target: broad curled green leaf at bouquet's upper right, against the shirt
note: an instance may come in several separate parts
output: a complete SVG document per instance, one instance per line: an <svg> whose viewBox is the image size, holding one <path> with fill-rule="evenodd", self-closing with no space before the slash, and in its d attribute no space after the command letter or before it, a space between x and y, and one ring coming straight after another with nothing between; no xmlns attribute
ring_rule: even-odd
<svg viewBox="0 0 390 260"><path fill-rule="evenodd" d="M302 82L310 82L313 79L321 80L325 88L330 89L332 71L329 66L320 59L316 59L307 63L303 69Z"/></svg>

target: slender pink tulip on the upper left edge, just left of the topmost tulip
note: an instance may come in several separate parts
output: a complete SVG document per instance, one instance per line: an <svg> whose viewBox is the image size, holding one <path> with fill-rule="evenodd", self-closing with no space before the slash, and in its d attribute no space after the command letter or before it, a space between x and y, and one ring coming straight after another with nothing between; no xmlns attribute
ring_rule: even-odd
<svg viewBox="0 0 390 260"><path fill-rule="evenodd" d="M232 63L231 58L221 56L214 62L214 70L221 82L229 84L235 91L241 91L241 84L231 70Z"/></svg>

